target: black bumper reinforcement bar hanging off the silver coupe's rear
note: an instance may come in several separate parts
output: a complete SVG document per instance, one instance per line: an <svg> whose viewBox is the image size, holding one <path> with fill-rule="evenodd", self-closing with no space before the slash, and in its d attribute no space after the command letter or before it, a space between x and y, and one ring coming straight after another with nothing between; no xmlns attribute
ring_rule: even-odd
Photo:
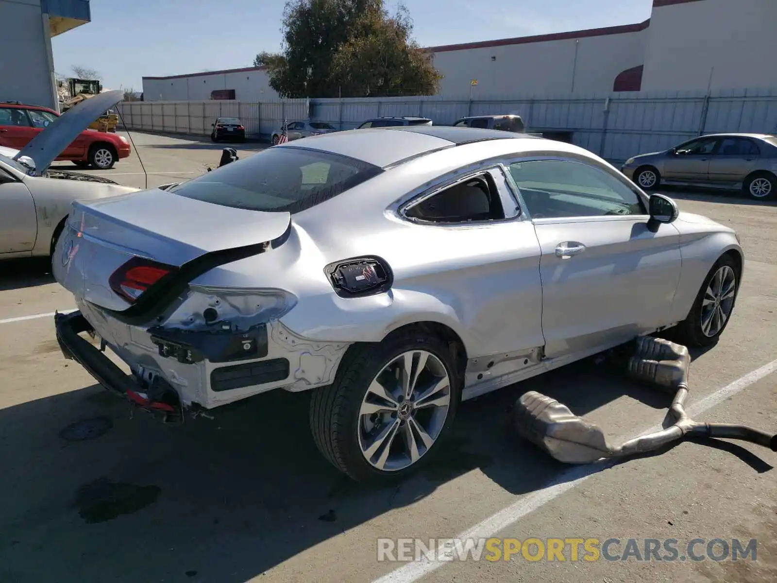
<svg viewBox="0 0 777 583"><path fill-rule="evenodd" d="M105 353L91 344L79 333L94 333L94 327L80 311L54 314L54 328L57 343L64 358L82 365L97 382L111 393L126 399L129 403L165 422L182 422L183 408L172 387L159 379L153 386L142 386L132 375L127 375Z"/></svg>

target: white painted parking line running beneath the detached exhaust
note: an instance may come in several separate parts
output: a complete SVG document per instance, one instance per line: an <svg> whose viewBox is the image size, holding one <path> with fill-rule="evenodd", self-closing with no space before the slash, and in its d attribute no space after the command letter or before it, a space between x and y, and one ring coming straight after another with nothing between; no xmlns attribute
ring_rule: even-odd
<svg viewBox="0 0 777 583"><path fill-rule="evenodd" d="M771 375L772 372L777 371L777 359L769 362L761 368L756 368L752 372L748 372L747 375L740 377L726 385L721 389L717 389L714 393L706 396L704 399L693 403L688 407L688 414L698 415L704 413L706 410L715 407L718 403L722 403L730 396L739 393L740 391L747 389L755 382L763 379L765 376ZM639 435L649 433L652 431L659 431L661 428L653 427L646 431L643 431ZM472 526L471 529L467 529L461 534L457 535L458 539L468 538L490 538L496 535L498 532L506 529L508 526L518 522L521 518L528 515L530 512L541 508L550 501L556 499L561 494L572 490L574 487L580 485L581 482L587 480L595 473L601 472L608 467L615 465L615 461L609 461L603 464L597 464L595 466L573 466L570 470L562 473L556 480L553 480L550 484L540 490L535 490L534 493L528 496L521 497L515 501L514 504L510 504L507 508L498 511L490 518L486 518L483 522L479 522ZM424 555L420 561L414 563L408 563L395 569L389 574L384 575L381 578L375 579L373 583L412 583L412 581L418 581L424 575L430 574L432 571L436 571L443 565L450 564L450 560L454 557L455 547L451 544L453 550L450 553L441 552L437 560L432 560L431 554ZM449 547L449 548L451 548ZM434 552L434 550L432 550ZM439 560L440 556L446 558L451 557L449 560Z"/></svg>

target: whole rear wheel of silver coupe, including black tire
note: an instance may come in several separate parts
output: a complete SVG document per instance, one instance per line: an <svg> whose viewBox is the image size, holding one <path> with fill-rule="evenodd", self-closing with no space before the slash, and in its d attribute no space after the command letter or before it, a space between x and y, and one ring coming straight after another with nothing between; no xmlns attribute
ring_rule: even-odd
<svg viewBox="0 0 777 583"><path fill-rule="evenodd" d="M394 405L399 407L394 407L370 390L371 386L380 387L376 383L378 377L384 379L384 385L391 386L383 375L393 368L392 362L404 362L404 355L413 353L426 355L427 366L417 373L420 359L412 357L416 389L423 387L419 389L420 396L413 393L416 403L426 402L427 396L434 395L434 399L429 399L434 402L444 401L447 396L447 408L431 407L431 403L416 408L407 400L400 402L402 397L395 398ZM420 330L396 333L379 344L355 344L343 357L334 384L314 389L312 394L309 413L315 445L329 463L354 480L389 482L407 477L432 459L450 433L461 398L461 378L456 371L448 345ZM441 374L448 376L447 386L444 379L439 380ZM434 386L438 390L429 388ZM399 396L400 390L397 383L393 393ZM364 407L376 407L373 403L378 403L382 412L364 413ZM382 407L385 404L389 407ZM423 428L431 442L424 441L417 428ZM380 435L386 438L376 438ZM411 443L416 446L414 462ZM374 449L372 456L368 453L370 445Z"/></svg>

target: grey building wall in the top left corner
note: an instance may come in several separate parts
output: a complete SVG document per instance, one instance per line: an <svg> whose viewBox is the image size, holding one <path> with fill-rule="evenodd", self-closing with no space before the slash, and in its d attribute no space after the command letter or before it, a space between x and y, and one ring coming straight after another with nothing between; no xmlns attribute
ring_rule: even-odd
<svg viewBox="0 0 777 583"><path fill-rule="evenodd" d="M57 109L40 0L0 0L0 101Z"/></svg>

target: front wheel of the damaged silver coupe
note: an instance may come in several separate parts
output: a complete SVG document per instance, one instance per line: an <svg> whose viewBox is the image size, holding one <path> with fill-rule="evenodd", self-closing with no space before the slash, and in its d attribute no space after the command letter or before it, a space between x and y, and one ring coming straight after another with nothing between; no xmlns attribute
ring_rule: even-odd
<svg viewBox="0 0 777 583"><path fill-rule="evenodd" d="M731 319L739 289L737 262L726 253L704 279L688 317L678 325L678 340L695 347L717 344Z"/></svg>

